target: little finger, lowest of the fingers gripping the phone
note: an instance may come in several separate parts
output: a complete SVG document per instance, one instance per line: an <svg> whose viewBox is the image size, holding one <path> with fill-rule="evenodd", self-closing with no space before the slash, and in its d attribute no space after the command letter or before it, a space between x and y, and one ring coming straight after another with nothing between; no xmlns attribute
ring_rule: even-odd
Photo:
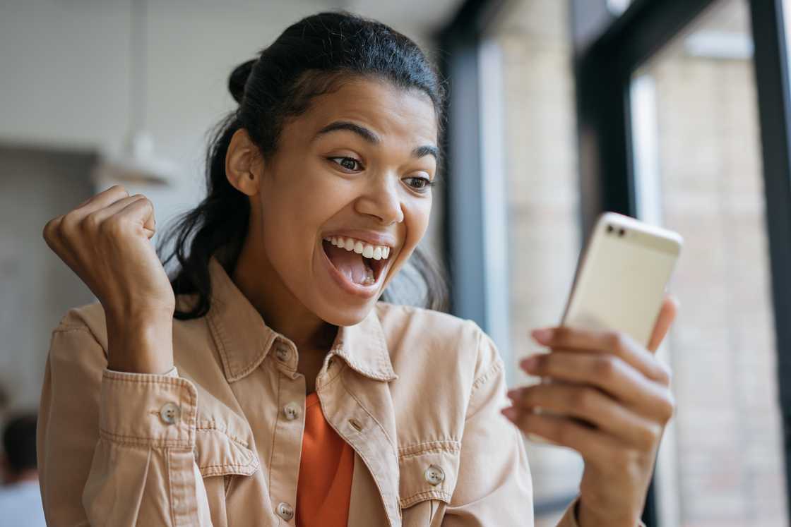
<svg viewBox="0 0 791 527"><path fill-rule="evenodd" d="M602 431L576 423L569 417L522 412L518 408L504 408L501 413L525 434L538 435L557 445L577 450L588 460L607 458L608 451L621 445Z"/></svg>

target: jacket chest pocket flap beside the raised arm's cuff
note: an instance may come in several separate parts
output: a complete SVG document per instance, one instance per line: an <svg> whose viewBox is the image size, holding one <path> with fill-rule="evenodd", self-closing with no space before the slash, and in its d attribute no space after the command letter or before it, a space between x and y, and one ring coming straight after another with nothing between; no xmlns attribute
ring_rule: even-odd
<svg viewBox="0 0 791 527"><path fill-rule="evenodd" d="M258 456L247 445L218 428L199 427L195 435L195 461L201 476L250 476L259 467Z"/></svg>

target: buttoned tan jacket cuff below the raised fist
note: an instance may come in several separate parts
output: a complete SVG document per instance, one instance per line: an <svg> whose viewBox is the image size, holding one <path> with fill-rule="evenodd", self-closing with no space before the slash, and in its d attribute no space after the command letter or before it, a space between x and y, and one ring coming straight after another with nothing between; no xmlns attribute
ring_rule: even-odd
<svg viewBox="0 0 791 527"><path fill-rule="evenodd" d="M195 446L198 393L176 368L163 375L105 369L100 437L129 446Z"/></svg>

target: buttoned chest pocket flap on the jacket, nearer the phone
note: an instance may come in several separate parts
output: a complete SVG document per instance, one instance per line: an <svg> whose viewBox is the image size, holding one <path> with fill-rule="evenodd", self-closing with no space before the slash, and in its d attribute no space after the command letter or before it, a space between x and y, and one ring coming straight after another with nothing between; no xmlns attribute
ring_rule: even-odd
<svg viewBox="0 0 791 527"><path fill-rule="evenodd" d="M433 441L399 449L399 504L402 508L426 499L450 503L459 473L460 444Z"/></svg>

